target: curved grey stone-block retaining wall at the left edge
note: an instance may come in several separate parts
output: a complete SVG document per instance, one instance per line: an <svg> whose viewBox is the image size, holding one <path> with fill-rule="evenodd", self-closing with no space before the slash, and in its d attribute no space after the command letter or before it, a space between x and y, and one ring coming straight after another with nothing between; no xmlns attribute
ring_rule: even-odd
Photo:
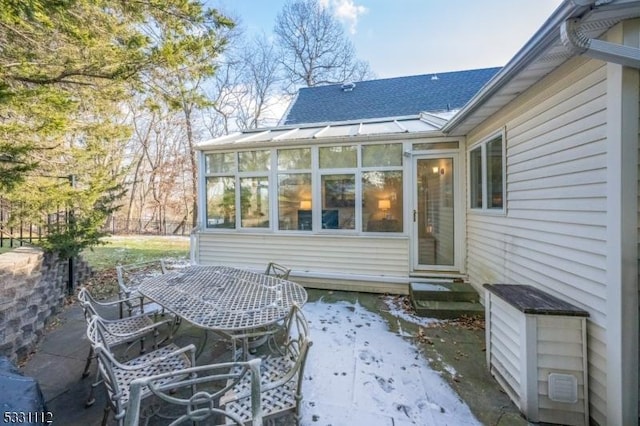
<svg viewBox="0 0 640 426"><path fill-rule="evenodd" d="M0 355L21 361L33 350L47 319L64 305L69 262L33 247L0 255ZM74 260L79 285L91 273Z"/></svg>

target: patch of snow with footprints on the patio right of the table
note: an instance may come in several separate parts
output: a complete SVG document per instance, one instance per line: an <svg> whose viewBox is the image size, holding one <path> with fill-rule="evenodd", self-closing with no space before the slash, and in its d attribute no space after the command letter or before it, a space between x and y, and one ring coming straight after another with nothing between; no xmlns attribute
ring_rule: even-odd
<svg viewBox="0 0 640 426"><path fill-rule="evenodd" d="M307 303L303 426L480 425L409 341L360 304Z"/></svg>

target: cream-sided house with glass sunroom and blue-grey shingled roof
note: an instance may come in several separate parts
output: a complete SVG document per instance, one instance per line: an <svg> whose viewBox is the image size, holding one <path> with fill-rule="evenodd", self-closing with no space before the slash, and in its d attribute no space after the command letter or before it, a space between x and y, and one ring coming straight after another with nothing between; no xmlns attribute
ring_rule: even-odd
<svg viewBox="0 0 640 426"><path fill-rule="evenodd" d="M566 0L502 69L304 89L282 126L202 144L196 261L362 291L535 286L589 313L591 421L637 424L639 18Z"/></svg>

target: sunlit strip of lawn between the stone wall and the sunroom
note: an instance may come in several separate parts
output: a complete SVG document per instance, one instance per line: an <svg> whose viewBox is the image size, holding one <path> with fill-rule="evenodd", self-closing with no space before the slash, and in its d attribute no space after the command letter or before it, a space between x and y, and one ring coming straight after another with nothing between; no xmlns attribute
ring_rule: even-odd
<svg viewBox="0 0 640 426"><path fill-rule="evenodd" d="M82 257L94 271L115 268L119 264L189 258L189 237L115 236L106 238L105 242L105 245L82 252Z"/></svg>

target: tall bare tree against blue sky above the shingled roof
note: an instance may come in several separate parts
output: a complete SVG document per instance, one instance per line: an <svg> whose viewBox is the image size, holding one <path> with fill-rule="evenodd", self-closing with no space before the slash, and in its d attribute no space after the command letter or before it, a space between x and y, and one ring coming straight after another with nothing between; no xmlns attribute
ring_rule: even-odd
<svg viewBox="0 0 640 426"><path fill-rule="evenodd" d="M340 22L318 0L288 1L276 18L274 33L289 92L372 76L368 63L356 58Z"/></svg>

